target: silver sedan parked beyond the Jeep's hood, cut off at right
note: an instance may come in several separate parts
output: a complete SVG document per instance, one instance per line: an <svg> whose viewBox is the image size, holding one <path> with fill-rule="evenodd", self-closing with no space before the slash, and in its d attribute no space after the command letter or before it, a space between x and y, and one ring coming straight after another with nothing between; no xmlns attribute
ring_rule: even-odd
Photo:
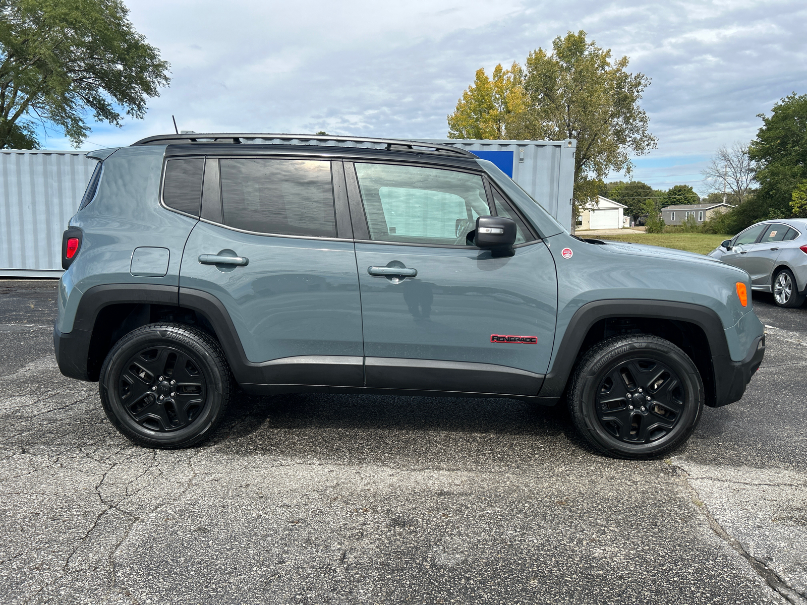
<svg viewBox="0 0 807 605"><path fill-rule="evenodd" d="M751 290L772 292L780 307L801 307L807 298L807 219L756 223L709 256L745 269Z"/></svg>

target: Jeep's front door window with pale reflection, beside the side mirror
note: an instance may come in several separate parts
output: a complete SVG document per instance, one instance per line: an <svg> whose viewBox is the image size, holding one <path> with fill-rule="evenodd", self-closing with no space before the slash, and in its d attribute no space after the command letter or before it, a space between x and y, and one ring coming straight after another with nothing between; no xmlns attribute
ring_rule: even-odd
<svg viewBox="0 0 807 605"><path fill-rule="evenodd" d="M482 177L452 170L356 164L370 239L466 245L491 214Z"/></svg>

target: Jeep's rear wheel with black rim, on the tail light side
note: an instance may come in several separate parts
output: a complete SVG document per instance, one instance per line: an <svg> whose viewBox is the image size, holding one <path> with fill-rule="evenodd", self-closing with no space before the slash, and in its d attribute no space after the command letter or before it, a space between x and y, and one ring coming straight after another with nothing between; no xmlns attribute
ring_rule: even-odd
<svg viewBox="0 0 807 605"><path fill-rule="evenodd" d="M177 323L151 323L123 336L107 354L98 384L115 428L157 449L188 448L210 438L232 390L219 344Z"/></svg>

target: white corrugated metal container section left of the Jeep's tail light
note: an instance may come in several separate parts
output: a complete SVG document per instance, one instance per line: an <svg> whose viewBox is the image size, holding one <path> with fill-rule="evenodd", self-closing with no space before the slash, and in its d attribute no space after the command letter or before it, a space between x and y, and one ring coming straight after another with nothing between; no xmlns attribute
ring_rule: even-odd
<svg viewBox="0 0 807 605"><path fill-rule="evenodd" d="M0 150L0 275L61 275L61 234L97 164L85 152Z"/></svg>

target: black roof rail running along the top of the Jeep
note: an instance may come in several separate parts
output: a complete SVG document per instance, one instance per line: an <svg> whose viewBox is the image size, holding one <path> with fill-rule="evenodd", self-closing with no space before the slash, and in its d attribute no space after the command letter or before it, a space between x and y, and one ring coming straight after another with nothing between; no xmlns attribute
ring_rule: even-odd
<svg viewBox="0 0 807 605"><path fill-rule="evenodd" d="M193 132L182 135L156 135L147 136L132 145L175 145L175 144L271 144L270 141L280 141L282 145L299 145L295 141L305 141L307 145L317 145L324 142L344 142L344 143L366 143L372 144L374 149L385 149L387 151L416 152L416 153L439 153L442 156L461 156L476 159L472 152L452 145L437 143L425 143L423 141L406 139L374 139L360 136L330 136L330 135L289 135L271 133L233 133L233 132ZM303 143L305 145L305 143ZM307 146L306 145L306 146ZM318 145L320 148L324 145ZM353 146L347 148L355 149Z"/></svg>

